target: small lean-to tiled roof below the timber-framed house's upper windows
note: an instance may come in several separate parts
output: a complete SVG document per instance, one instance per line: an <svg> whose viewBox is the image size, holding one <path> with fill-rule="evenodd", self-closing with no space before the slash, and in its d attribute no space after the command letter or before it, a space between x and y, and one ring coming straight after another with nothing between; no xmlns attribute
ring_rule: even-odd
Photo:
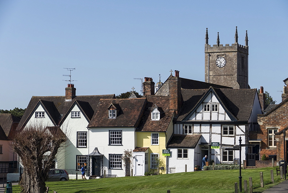
<svg viewBox="0 0 288 193"><path fill-rule="evenodd" d="M174 134L167 144L167 148L195 148L198 141L201 138L201 134L198 135L179 135Z"/></svg>

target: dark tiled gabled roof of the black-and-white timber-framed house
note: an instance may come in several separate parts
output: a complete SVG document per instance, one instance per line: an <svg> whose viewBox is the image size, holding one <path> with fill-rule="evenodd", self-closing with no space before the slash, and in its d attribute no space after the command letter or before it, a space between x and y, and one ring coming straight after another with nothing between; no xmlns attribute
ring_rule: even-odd
<svg viewBox="0 0 288 193"><path fill-rule="evenodd" d="M183 104L177 121L189 118L190 114L194 112L210 92L215 94L224 110L230 114L234 120L249 120L257 89L227 89L211 87L209 89L181 89Z"/></svg>

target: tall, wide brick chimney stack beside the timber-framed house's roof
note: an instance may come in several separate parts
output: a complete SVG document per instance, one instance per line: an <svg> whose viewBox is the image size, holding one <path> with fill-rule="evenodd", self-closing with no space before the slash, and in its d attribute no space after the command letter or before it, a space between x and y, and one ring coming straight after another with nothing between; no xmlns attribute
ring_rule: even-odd
<svg viewBox="0 0 288 193"><path fill-rule="evenodd" d="M175 110L178 114L182 97L181 97L181 79L179 78L179 71L175 70L175 77L170 76L169 81L169 109Z"/></svg>

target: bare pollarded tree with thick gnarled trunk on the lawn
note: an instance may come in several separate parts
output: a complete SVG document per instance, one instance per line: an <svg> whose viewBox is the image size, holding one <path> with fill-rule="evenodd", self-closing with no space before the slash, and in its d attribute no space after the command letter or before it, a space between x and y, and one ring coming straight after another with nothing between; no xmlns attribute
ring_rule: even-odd
<svg viewBox="0 0 288 193"><path fill-rule="evenodd" d="M46 191L48 172L57 152L65 148L66 140L60 127L47 127L37 122L13 134L11 147L18 153L24 168L20 183L24 192Z"/></svg>

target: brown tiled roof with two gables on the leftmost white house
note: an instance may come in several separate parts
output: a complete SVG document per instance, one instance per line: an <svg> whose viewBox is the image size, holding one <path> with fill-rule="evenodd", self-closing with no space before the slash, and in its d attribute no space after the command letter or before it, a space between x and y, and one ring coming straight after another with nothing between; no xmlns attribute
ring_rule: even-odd
<svg viewBox="0 0 288 193"><path fill-rule="evenodd" d="M75 98L73 98L71 101L65 101L65 96L32 96L17 129L21 129L26 125L29 118L33 116L31 113L40 101L45 110L47 110L47 112L49 113L52 122L57 125L67 114L68 110L71 108L74 101L76 100L77 103L85 111L87 116L92 118L99 99L113 98L115 98L115 94L75 96Z"/></svg>

